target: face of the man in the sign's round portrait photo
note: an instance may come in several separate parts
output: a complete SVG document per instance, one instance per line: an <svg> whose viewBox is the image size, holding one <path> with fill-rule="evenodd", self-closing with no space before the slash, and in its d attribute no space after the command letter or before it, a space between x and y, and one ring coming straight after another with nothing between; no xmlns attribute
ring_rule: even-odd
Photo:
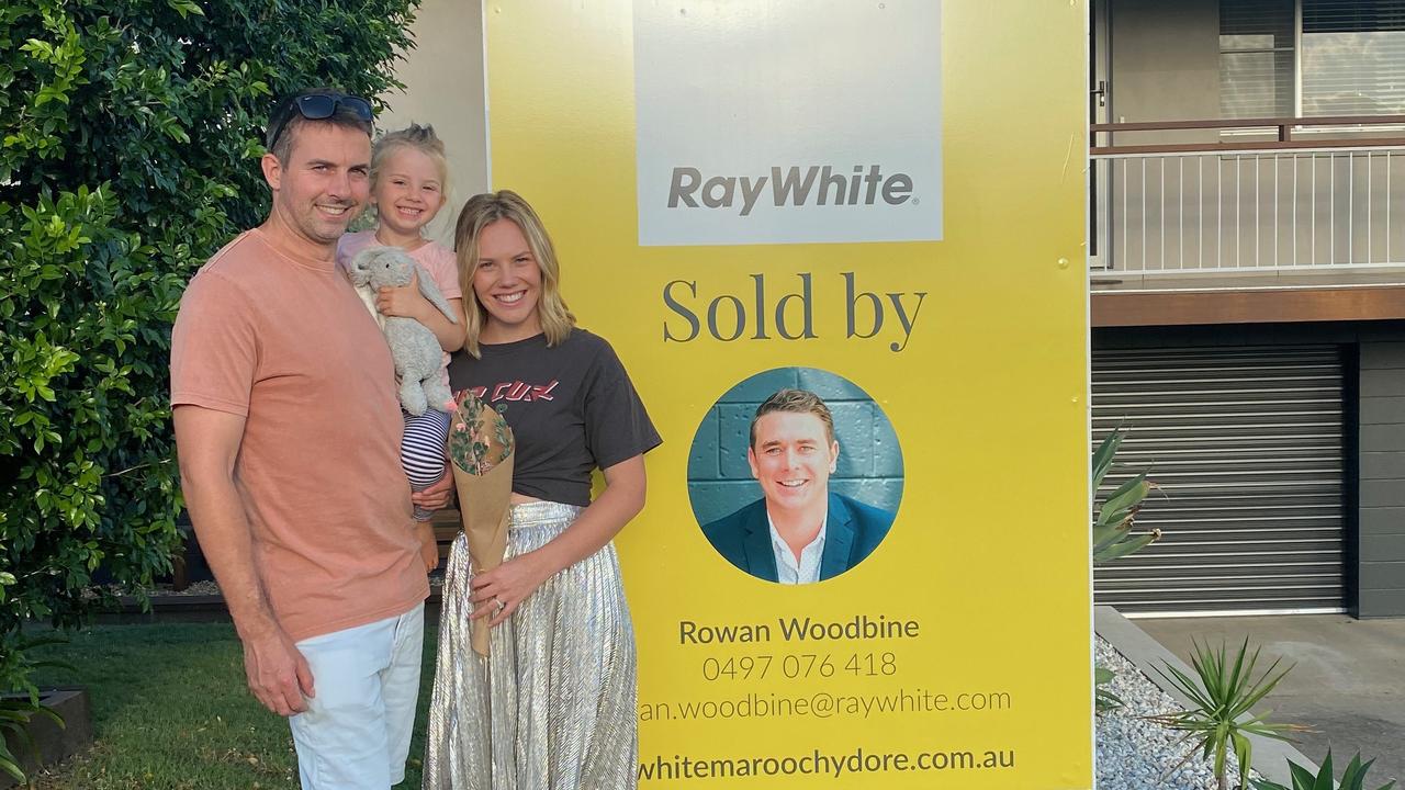
<svg viewBox="0 0 1405 790"><path fill-rule="evenodd" d="M746 451L767 509L804 509L829 496L839 441L809 412L770 412L756 420L756 443Z"/></svg>

